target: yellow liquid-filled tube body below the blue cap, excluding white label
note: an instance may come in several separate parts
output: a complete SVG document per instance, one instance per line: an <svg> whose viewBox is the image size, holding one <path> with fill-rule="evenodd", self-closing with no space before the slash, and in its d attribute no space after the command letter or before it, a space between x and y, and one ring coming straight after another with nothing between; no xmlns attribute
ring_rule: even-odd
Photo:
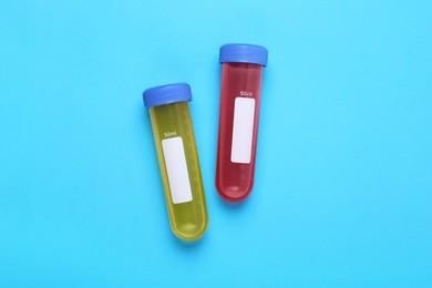
<svg viewBox="0 0 432 288"><path fill-rule="evenodd" d="M188 103L178 102L150 107L150 116L171 228L174 234L182 239L196 240L206 232L208 216ZM171 137L182 137L183 140L192 191L191 202L174 204L171 196L169 182L162 148L162 141Z"/></svg>

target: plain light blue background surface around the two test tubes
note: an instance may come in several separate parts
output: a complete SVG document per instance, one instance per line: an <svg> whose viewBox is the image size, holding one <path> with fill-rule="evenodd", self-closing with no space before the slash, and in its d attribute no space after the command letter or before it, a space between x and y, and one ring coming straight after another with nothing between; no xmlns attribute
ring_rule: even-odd
<svg viewBox="0 0 432 288"><path fill-rule="evenodd" d="M1 287L432 287L430 1L0 2ZM214 187L224 43L256 185ZM188 82L210 225L171 233L144 89Z"/></svg>

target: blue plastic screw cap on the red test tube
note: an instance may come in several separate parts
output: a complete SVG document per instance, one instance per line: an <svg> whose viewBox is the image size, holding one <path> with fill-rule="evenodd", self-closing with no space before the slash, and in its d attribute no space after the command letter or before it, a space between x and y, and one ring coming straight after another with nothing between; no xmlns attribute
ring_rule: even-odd
<svg viewBox="0 0 432 288"><path fill-rule="evenodd" d="M219 62L267 65L267 49L251 44L225 44L219 50Z"/></svg>

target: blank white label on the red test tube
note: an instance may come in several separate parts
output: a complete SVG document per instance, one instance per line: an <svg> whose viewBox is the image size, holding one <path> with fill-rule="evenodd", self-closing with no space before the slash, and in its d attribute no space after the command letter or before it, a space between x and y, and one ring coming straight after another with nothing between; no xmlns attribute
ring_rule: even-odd
<svg viewBox="0 0 432 288"><path fill-rule="evenodd" d="M254 133L255 99L236 97L233 124L233 163L250 163Z"/></svg>

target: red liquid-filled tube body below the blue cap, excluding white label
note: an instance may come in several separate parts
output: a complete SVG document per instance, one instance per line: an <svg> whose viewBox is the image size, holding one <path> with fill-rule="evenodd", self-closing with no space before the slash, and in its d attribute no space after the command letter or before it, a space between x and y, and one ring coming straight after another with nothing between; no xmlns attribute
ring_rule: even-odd
<svg viewBox="0 0 432 288"><path fill-rule="evenodd" d="M217 147L216 188L229 202L245 199L254 186L263 66L248 63L222 64L219 136ZM251 93L250 93L251 92ZM233 163L233 124L236 97L255 99L250 163Z"/></svg>

